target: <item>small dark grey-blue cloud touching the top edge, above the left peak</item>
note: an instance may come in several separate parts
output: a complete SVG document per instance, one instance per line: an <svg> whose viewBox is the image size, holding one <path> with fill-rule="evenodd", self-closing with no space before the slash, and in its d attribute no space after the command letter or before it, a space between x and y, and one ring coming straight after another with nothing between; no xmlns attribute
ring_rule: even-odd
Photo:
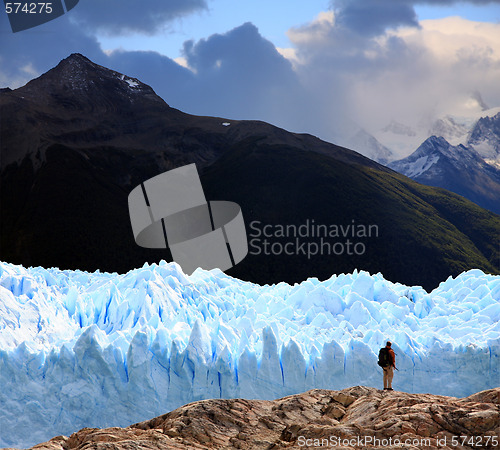
<svg viewBox="0 0 500 450"><path fill-rule="evenodd" d="M81 0L71 14L88 30L154 34L173 19L205 8L205 0Z"/></svg>

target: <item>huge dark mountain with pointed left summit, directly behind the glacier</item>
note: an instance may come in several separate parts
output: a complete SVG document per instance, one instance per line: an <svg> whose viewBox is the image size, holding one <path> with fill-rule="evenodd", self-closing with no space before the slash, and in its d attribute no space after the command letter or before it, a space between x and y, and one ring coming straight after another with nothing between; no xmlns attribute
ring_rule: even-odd
<svg viewBox="0 0 500 450"><path fill-rule="evenodd" d="M462 197L307 134L185 114L82 55L4 90L0 108L0 250L9 262L125 272L168 259L135 244L128 194L196 163L209 200L242 208L250 254L228 273L244 280L293 283L356 268L432 289L469 268L500 271L500 218Z"/></svg>

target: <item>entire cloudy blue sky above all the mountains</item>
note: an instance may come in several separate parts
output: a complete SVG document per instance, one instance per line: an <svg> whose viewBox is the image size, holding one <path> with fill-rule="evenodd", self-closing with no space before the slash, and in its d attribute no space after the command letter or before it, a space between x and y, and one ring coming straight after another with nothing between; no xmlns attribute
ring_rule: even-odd
<svg viewBox="0 0 500 450"><path fill-rule="evenodd" d="M0 87L78 52L185 112L332 142L500 106L500 0L80 0L0 36Z"/></svg>

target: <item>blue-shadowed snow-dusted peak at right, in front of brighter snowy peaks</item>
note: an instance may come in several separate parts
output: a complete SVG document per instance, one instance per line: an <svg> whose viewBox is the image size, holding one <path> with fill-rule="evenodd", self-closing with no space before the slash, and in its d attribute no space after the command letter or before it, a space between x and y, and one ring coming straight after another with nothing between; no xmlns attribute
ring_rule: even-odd
<svg viewBox="0 0 500 450"><path fill-rule="evenodd" d="M432 136L407 158L388 166L429 186L463 195L500 214L500 170L487 164L472 148L453 146Z"/></svg>

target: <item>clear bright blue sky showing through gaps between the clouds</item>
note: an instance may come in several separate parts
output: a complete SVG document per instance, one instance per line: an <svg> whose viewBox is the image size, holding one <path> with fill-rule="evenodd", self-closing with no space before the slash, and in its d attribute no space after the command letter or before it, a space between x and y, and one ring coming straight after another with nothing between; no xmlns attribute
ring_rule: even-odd
<svg viewBox="0 0 500 450"><path fill-rule="evenodd" d="M100 35L104 49L154 50L171 58L182 56L182 45L186 40L224 33L245 22L253 23L260 34L277 47L289 47L287 31L312 21L319 12L330 7L328 0L211 0L207 8L169 24L165 31L154 36L134 34L132 36ZM479 22L500 22L500 4L416 5L419 20L441 19L460 16Z"/></svg>

